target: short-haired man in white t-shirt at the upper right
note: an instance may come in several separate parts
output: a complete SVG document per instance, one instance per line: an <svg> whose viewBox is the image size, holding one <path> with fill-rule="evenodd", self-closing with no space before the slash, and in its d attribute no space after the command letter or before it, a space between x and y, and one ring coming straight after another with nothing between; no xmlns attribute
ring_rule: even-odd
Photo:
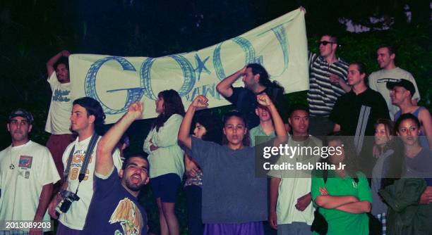
<svg viewBox="0 0 432 235"><path fill-rule="evenodd" d="M381 70L372 72L371 75L369 75L369 87L383 95L392 120L397 111L399 111L399 108L392 104L392 99L390 99L390 90L386 87L387 82L399 82L401 79L412 82L416 89L416 93L412 96L412 103L416 106L417 102L420 101L420 93L417 88L416 80L414 80L414 77L412 77L410 72L402 70L402 68L395 65L395 58L396 51L394 46L380 46L378 51L376 51L376 60L378 61Z"/></svg>

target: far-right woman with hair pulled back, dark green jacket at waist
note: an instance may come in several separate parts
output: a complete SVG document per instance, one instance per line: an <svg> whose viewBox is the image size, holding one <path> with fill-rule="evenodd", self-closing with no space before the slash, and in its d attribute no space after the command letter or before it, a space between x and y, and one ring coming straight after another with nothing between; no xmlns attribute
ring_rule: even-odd
<svg viewBox="0 0 432 235"><path fill-rule="evenodd" d="M411 113L397 119L404 143L402 158L392 155L380 195L388 205L387 234L432 234L432 154L419 143L419 120Z"/></svg>

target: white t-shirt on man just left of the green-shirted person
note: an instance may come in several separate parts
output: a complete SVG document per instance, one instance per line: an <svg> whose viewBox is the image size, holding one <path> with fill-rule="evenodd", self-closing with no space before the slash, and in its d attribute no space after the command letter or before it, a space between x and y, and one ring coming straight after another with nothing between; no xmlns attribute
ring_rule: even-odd
<svg viewBox="0 0 432 235"><path fill-rule="evenodd" d="M309 136L306 141L294 141L288 139L288 146L311 146L321 147L323 142L320 139ZM291 156L289 156L291 157ZM294 163L301 162L303 164L311 163L315 165L320 161L319 155L296 155L292 158L280 158L277 164L281 162ZM277 224L292 224L292 222L304 222L311 225L313 222L313 203L311 202L304 211L297 210L295 205L297 199L311 192L311 170L270 170L268 173L271 177L280 178L279 196L277 197Z"/></svg>

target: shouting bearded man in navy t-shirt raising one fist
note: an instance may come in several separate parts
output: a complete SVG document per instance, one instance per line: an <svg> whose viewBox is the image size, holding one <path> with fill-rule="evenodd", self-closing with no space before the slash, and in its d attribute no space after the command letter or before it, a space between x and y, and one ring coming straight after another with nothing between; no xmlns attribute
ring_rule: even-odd
<svg viewBox="0 0 432 235"><path fill-rule="evenodd" d="M121 136L142 115L143 103L133 103L97 144L95 193L83 234L147 234L147 215L137 197L149 182L148 160L129 155L117 174L112 159Z"/></svg>

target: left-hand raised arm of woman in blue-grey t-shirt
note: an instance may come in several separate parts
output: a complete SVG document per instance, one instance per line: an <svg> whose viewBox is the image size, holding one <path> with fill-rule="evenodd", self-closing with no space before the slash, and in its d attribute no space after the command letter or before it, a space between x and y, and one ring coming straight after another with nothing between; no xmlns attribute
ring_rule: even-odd
<svg viewBox="0 0 432 235"><path fill-rule="evenodd" d="M192 101L191 106L189 106L186 114L184 115L183 121L181 122L179 134L177 135L177 139L179 142L186 146L186 148L192 148L192 138L189 135L189 130L191 129L191 123L193 119L193 115L195 115L195 111L198 108L205 108L208 106L208 99L203 95L196 96L196 98Z"/></svg>

